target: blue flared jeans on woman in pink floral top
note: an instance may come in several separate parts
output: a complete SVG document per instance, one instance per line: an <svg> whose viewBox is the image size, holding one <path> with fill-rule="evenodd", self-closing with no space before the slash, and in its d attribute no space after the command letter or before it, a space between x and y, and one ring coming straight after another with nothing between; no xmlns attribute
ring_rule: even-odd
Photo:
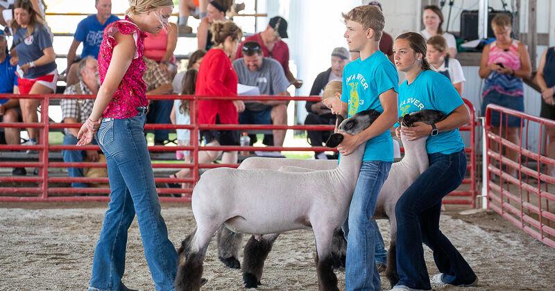
<svg viewBox="0 0 555 291"><path fill-rule="evenodd" d="M89 290L125 290L121 276L135 213L156 290L173 290L178 255L160 215L144 119L144 114L105 118L96 136L108 163L110 204L94 251Z"/></svg>

